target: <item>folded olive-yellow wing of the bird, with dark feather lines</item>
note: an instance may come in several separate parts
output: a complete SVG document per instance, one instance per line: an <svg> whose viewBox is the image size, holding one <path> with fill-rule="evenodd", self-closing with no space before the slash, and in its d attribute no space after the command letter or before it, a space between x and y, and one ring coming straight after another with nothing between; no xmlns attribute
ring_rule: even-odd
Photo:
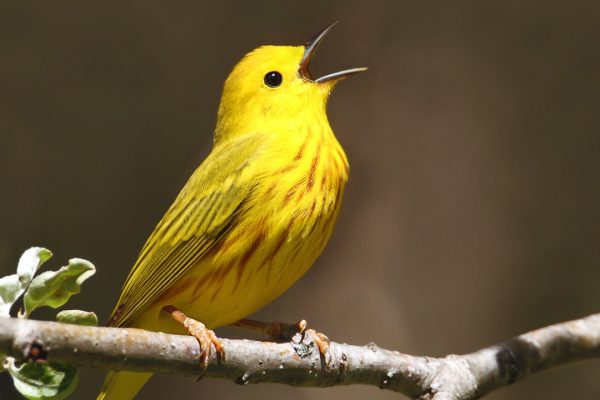
<svg viewBox="0 0 600 400"><path fill-rule="evenodd" d="M257 177L253 161L265 135L232 139L213 149L190 177L140 252L117 302L109 326L133 318L228 232L245 212Z"/></svg>

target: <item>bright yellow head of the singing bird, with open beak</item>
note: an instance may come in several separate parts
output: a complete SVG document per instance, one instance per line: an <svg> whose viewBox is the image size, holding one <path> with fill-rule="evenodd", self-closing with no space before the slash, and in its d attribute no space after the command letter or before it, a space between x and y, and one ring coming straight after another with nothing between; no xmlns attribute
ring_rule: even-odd
<svg viewBox="0 0 600 400"><path fill-rule="evenodd" d="M335 84L366 70L352 68L314 79L315 51L334 24L304 46L262 46L235 66L223 88L215 144L273 127L292 127L311 118L327 119L327 98Z"/></svg>

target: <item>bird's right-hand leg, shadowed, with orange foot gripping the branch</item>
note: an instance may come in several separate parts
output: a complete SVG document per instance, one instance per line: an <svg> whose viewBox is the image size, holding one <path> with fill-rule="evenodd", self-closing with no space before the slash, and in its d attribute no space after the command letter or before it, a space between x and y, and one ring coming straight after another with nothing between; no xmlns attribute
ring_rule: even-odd
<svg viewBox="0 0 600 400"><path fill-rule="evenodd" d="M297 333L301 334L302 338L304 339L304 337L308 334L312 337L313 341L319 348L319 353L321 353L323 356L326 355L327 350L329 349L329 338L321 332L315 331L314 329L306 329L306 320L304 319L296 322L295 324L288 324L285 322L262 322L255 321L253 319L240 319L239 321L234 322L232 325L264 333L274 340L284 339L291 341Z"/></svg>

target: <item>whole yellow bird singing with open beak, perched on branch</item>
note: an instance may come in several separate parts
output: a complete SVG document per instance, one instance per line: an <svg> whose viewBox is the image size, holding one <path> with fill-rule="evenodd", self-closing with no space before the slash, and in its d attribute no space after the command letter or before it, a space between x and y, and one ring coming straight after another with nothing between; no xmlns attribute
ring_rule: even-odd
<svg viewBox="0 0 600 400"><path fill-rule="evenodd" d="M304 46L259 47L235 66L213 149L146 241L109 326L181 333L183 325L198 339L204 366L211 345L224 351L209 329L281 333L285 324L243 318L321 254L348 179L327 99L338 81L366 68L313 78L310 61L333 25ZM315 339L326 351L327 337ZM132 399L151 375L110 372L98 399Z"/></svg>

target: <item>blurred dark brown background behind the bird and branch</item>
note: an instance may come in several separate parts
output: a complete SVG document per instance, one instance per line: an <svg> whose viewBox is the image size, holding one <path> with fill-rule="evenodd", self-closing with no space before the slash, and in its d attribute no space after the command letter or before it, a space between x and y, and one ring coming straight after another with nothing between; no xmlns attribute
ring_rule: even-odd
<svg viewBox="0 0 600 400"><path fill-rule="evenodd" d="M87 258L97 275L69 304L105 320L209 152L233 65L339 20L315 72L371 67L329 107L343 211L315 268L255 317L440 356L598 312L599 16L593 1L4 2L0 273L31 245L51 267ZM599 374L580 363L489 398L599 398ZM82 369L74 398L102 376ZM184 396L398 398L169 376L140 398Z"/></svg>

